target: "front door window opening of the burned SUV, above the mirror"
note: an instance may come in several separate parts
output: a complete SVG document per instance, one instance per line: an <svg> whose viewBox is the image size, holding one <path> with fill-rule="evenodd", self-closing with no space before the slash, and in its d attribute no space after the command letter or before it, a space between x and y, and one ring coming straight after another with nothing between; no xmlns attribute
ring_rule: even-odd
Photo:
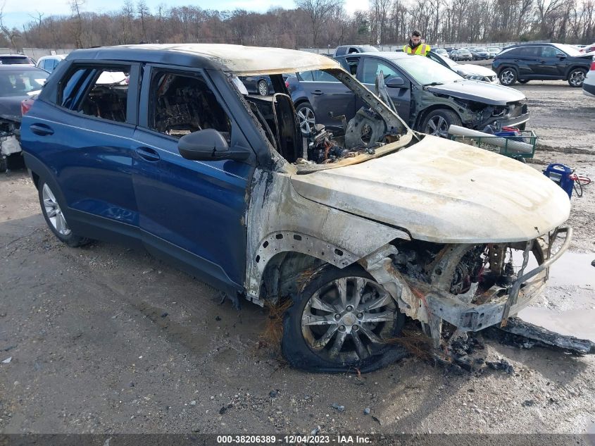
<svg viewBox="0 0 595 446"><path fill-rule="evenodd" d="M175 138L212 128L229 144L232 123L201 75L160 71L151 80L149 128Z"/></svg>

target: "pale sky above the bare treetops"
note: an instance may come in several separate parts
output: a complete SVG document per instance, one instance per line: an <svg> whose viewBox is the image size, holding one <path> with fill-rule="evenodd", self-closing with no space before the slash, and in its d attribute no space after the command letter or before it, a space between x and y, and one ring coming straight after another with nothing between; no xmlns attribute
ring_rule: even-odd
<svg viewBox="0 0 595 446"><path fill-rule="evenodd" d="M133 0L136 3L135 0ZM218 9L219 11L233 10L236 8L245 9L246 11L265 12L271 6L282 6L289 9L294 7L292 0L201 0L200 4L192 0L145 0L146 4L155 11L158 4L165 4L166 6L185 6L195 4L203 9ZM4 25L9 27L18 27L23 29L23 25L33 20L33 17L39 16L39 13L44 16L51 15L65 15L70 14L70 2L65 0L0 0L0 5L4 4L3 21ZM83 11L95 11L97 13L106 11L118 11L122 8L123 1L120 0L86 0L82 6ZM348 13L353 13L357 9L368 8L368 1L366 0L346 0L345 9Z"/></svg>

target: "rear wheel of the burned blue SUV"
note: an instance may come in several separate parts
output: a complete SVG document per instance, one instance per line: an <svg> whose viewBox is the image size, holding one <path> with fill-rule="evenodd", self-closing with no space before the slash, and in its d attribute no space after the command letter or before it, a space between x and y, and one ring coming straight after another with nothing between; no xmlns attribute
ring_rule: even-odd
<svg viewBox="0 0 595 446"><path fill-rule="evenodd" d="M79 247L87 244L90 240L87 237L81 237L73 232L66 222L66 217L62 211L61 204L58 202L57 186L49 185L44 180L39 180L38 197L39 204L42 207L42 214L52 233L61 242L70 247Z"/></svg>

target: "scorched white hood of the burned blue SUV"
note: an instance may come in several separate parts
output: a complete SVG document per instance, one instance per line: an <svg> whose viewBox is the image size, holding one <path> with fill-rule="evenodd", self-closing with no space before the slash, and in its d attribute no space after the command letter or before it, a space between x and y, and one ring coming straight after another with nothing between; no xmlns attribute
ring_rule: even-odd
<svg viewBox="0 0 595 446"><path fill-rule="evenodd" d="M429 242L531 240L570 212L568 195L534 168L431 136L363 163L293 175L292 185L314 202Z"/></svg>

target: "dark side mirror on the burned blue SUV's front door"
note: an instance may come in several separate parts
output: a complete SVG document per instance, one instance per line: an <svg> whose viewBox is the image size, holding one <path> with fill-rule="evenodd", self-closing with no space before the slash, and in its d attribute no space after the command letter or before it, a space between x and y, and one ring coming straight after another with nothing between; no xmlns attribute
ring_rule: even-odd
<svg viewBox="0 0 595 446"><path fill-rule="evenodd" d="M182 136L177 142L177 150L185 159L194 161L216 161L219 159L244 161L250 156L250 152L243 147L230 149L223 135L213 128L206 128Z"/></svg>

